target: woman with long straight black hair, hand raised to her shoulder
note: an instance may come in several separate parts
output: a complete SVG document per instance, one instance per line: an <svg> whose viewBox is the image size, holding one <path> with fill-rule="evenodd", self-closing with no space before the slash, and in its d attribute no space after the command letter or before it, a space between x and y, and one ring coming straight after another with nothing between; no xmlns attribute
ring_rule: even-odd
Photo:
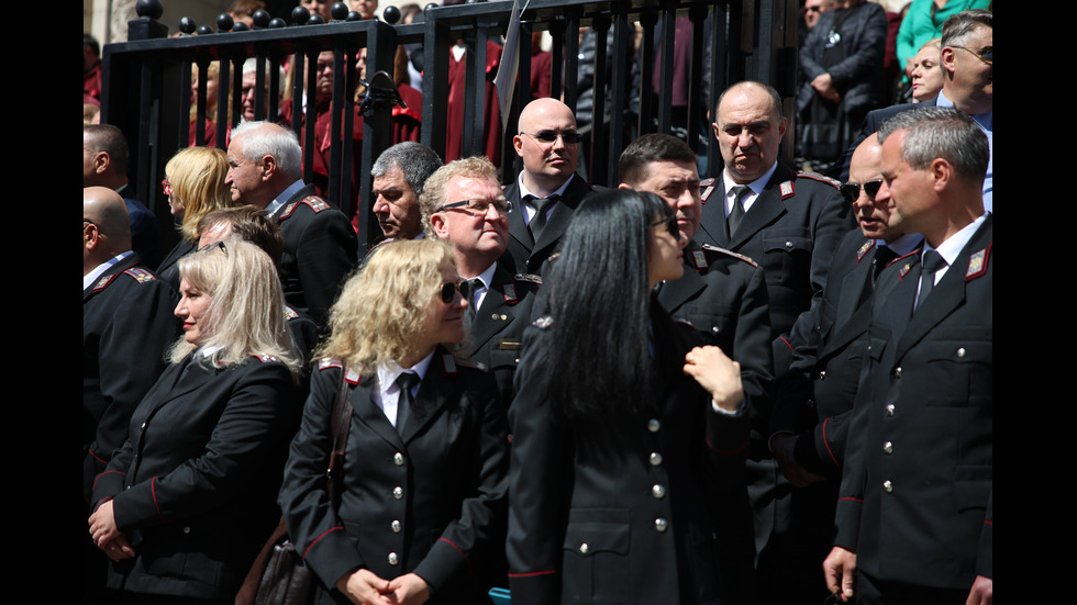
<svg viewBox="0 0 1077 605"><path fill-rule="evenodd" d="M718 517L743 494L739 363L675 324L668 206L634 191L576 211L544 277L509 411L512 603L721 603ZM751 559L748 559L751 562Z"/></svg>

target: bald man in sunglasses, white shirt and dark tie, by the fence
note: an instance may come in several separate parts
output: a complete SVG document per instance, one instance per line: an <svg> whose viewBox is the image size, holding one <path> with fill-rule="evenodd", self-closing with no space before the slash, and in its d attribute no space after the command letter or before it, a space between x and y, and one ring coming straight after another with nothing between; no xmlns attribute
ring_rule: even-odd
<svg viewBox="0 0 1077 605"><path fill-rule="evenodd" d="M507 259L515 272L542 275L573 211L591 188L576 175L579 133L568 105L535 99L520 112L519 124L512 146L523 158L523 170L504 190L513 208Z"/></svg>

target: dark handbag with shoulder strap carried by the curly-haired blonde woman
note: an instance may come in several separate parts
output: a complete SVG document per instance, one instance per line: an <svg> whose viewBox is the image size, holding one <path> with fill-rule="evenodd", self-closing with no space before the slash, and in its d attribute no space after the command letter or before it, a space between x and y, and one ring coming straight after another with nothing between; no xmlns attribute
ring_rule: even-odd
<svg viewBox="0 0 1077 605"><path fill-rule="evenodd" d="M347 368L341 369L341 385L333 402L331 426L333 450L329 457L325 490L330 502L338 503L341 486L336 473L344 467L344 449L347 447L348 428L352 426L352 408L347 403L351 394L347 382ZM313 573L296 552L296 546L288 539L288 528L284 516L277 528L269 535L262 551L258 552L251 571L243 580L235 595L235 605L306 605L314 584Z"/></svg>

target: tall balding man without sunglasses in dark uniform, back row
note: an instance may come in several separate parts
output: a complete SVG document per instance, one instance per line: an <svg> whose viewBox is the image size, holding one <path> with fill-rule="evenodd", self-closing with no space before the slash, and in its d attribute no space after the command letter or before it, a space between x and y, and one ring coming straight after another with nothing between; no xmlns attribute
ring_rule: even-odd
<svg viewBox="0 0 1077 605"><path fill-rule="evenodd" d="M776 378L792 354L786 335L822 295L834 248L854 226L836 181L795 173L778 163L787 124L780 108L778 92L759 82L733 85L719 98L713 127L723 169L703 183L696 235L700 244L747 256L762 267ZM755 419L762 433L752 440L747 462L758 586L763 603L788 603L799 597L785 583L793 556L787 535L791 486L767 449L766 412Z"/></svg>

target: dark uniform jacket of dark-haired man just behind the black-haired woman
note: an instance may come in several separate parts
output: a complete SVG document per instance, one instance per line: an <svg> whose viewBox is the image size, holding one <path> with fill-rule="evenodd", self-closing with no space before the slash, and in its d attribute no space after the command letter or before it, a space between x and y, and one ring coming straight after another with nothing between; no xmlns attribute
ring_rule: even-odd
<svg viewBox="0 0 1077 605"><path fill-rule="evenodd" d="M664 282L658 301L741 363L744 396L753 413L767 417L774 362L763 269L742 255L691 242L685 248L684 277Z"/></svg>

